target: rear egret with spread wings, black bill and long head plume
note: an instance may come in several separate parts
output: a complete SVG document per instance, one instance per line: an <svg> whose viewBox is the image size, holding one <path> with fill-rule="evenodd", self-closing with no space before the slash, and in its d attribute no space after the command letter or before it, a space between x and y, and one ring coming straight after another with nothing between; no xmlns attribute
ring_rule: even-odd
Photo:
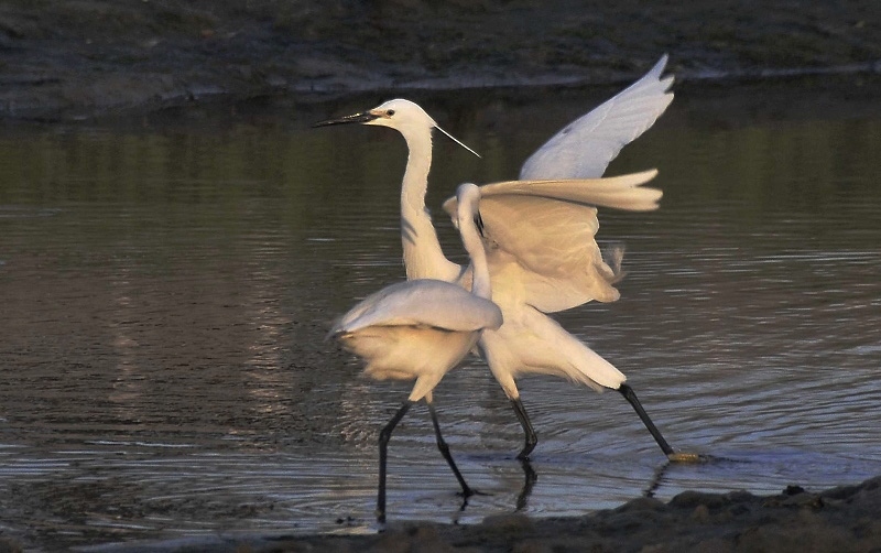
<svg viewBox="0 0 881 553"><path fill-rule="evenodd" d="M661 191L641 187L656 171L598 177L621 148L650 128L672 101L667 88L673 77L660 78L665 64L666 56L633 85L561 130L525 162L521 181L481 187L492 300L501 307L504 324L482 334L479 350L523 427L521 459L537 444L514 382L525 373L559 376L597 391L618 390L668 458L696 458L674 452L621 371L546 315L590 300L619 297L613 286L620 278L618 268L602 259L594 238L599 228L595 206L656 209ZM401 188L401 234L407 278L467 286L470 271L444 257L425 208L432 130L452 135L416 104L402 99L315 126L339 123L390 127L404 137L409 158ZM445 204L448 210L453 206L450 200Z"/></svg>

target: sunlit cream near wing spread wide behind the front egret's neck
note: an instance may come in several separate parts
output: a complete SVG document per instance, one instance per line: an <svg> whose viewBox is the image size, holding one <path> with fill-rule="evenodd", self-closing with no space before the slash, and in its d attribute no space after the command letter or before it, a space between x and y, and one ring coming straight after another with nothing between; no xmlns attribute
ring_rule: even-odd
<svg viewBox="0 0 881 553"><path fill-rule="evenodd" d="M612 284L618 273L602 260L594 239L599 228L594 206L657 208L661 191L640 186L656 174L481 186L479 210L493 300L505 304L516 296L545 313L590 300L617 300ZM444 202L444 209L454 215L456 198Z"/></svg>

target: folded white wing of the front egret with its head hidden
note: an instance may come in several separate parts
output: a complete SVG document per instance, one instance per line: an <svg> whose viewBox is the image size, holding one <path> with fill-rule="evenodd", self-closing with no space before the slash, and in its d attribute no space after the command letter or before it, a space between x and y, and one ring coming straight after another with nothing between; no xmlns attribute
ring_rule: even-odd
<svg viewBox="0 0 881 553"><path fill-rule="evenodd" d="M342 315L328 333L352 333L369 326L432 326L471 332L498 328L499 307L460 286L431 279L399 282L376 292Z"/></svg>

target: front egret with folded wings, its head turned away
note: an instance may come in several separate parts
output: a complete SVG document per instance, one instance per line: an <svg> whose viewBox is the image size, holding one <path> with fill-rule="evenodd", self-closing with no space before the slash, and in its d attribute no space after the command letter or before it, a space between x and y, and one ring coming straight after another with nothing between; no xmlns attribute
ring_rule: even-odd
<svg viewBox="0 0 881 553"><path fill-rule="evenodd" d="M440 434L432 390L475 347L482 330L501 326L502 312L489 300L489 269L479 235L480 191L474 184L463 184L457 191L457 199L456 223L463 245L471 257L471 292L432 279L392 284L352 307L328 334L366 362L365 373L368 376L378 380L416 380L410 397L380 433L377 496L380 522L385 520L389 438L413 403L423 398L428 404L437 447L459 480L463 495L472 495Z"/></svg>

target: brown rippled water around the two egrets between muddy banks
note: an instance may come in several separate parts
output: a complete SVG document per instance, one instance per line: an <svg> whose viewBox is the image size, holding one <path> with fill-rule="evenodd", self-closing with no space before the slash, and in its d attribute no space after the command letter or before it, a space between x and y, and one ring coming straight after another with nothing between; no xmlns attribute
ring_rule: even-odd
<svg viewBox="0 0 881 553"><path fill-rule="evenodd" d="M423 102L483 154L438 139L428 204L514 176L595 94ZM370 530L378 431L409 387L358 378L323 338L403 275L405 149L384 129L308 124L380 99L2 131L3 535L55 549ZM524 490L520 426L471 360L435 397L488 495L463 508L420 406L391 444L390 520L881 474L881 113L721 106L681 93L613 163L659 167L662 209L601 212L600 238L628 248L622 299L559 319L629 376L674 447L727 460L668 466L617 393L524 379L540 437Z"/></svg>

